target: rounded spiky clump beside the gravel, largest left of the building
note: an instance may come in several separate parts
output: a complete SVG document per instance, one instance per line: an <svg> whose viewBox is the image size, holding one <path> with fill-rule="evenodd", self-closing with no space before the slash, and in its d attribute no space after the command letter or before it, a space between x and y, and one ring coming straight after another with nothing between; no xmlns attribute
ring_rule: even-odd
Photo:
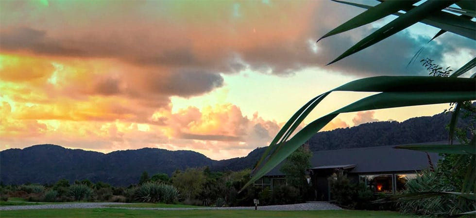
<svg viewBox="0 0 476 218"><path fill-rule="evenodd" d="M162 183L146 182L136 190L136 199L142 202L173 203L178 197L177 188Z"/></svg>

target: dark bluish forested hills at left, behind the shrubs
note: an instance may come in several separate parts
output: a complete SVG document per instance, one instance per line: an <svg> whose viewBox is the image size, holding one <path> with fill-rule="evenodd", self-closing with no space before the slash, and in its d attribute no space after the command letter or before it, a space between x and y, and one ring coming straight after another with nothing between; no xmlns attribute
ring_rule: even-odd
<svg viewBox="0 0 476 218"><path fill-rule="evenodd" d="M128 186L137 183L143 171L151 176L158 172L170 175L175 169L211 166L213 162L216 160L193 151L142 148L102 154L44 144L0 152L0 179L4 184L43 184L87 178Z"/></svg>

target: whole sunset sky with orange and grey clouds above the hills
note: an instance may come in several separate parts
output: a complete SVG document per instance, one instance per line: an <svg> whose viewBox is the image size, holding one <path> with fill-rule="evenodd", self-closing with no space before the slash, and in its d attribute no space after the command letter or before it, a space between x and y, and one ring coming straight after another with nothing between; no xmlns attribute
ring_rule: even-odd
<svg viewBox="0 0 476 218"><path fill-rule="evenodd" d="M395 18L316 43L362 11L327 0L2 0L0 150L50 143L246 156L320 93L357 78L428 75L418 61L406 68L439 31L424 24L325 66ZM475 55L474 41L445 33L419 60L456 70ZM333 93L305 123L367 95ZM341 114L324 130L447 108Z"/></svg>

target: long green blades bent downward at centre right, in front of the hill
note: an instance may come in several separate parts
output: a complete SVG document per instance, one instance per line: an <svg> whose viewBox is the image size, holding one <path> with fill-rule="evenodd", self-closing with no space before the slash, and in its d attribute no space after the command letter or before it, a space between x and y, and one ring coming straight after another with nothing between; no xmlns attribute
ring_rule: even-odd
<svg viewBox="0 0 476 218"><path fill-rule="evenodd" d="M382 93L363 98L311 122L288 141L277 143L279 139L276 139L280 138L277 136L275 140L273 140L276 144L272 143L268 147L265 155L263 155L261 161L255 167L251 180L244 187L251 185L255 180L271 171L340 113L475 100L475 83L475 78L442 77L373 77L346 83L331 92L354 91ZM324 95L328 93L324 93L318 97L325 97ZM317 106L319 102L317 102L315 106ZM304 119L305 117L301 116L302 112L312 103L314 102L310 101L303 107L304 109L301 108L298 111L300 113L296 113L299 115L295 114L288 121L288 124L293 124L298 119ZM291 125L283 127L280 133L287 132L290 126Z"/></svg>

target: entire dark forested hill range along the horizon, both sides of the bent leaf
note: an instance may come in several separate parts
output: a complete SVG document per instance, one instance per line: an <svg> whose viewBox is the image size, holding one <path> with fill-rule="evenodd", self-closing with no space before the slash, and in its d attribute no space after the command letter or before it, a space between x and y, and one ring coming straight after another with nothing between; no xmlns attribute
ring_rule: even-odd
<svg viewBox="0 0 476 218"><path fill-rule="evenodd" d="M317 133L309 145L312 151L320 151L448 140L445 125L449 120L450 114L437 114L402 123L362 124ZM217 161L193 151L142 148L102 154L51 144L34 145L0 152L0 181L44 184L67 178L127 186L137 183L143 171L149 175L159 172L171 175L176 169L188 167L209 166L214 171L253 168L265 149L257 148L245 157Z"/></svg>

